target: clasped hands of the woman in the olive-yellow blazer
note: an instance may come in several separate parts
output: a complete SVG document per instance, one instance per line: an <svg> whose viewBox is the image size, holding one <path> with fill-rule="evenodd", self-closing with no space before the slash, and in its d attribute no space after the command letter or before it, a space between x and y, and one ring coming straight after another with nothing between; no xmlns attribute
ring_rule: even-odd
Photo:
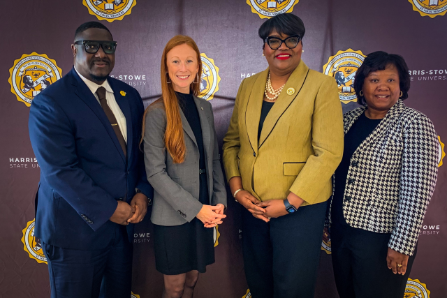
<svg viewBox="0 0 447 298"><path fill-rule="evenodd" d="M304 202L304 200L294 193L289 193L287 198L289 202L293 199L293 206L295 206L295 208L300 207L302 202ZM249 193L249 191L238 192L235 199L253 214L254 217L259 218L266 223L270 221L270 218L277 218L288 214L286 206L284 205L284 200L268 200L261 202L255 198L254 195Z"/></svg>

